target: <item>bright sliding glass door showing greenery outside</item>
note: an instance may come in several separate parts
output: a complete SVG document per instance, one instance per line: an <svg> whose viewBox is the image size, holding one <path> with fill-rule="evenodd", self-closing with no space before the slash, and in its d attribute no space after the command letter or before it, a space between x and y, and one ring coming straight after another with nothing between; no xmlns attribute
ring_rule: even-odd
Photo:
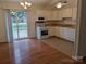
<svg viewBox="0 0 86 64"><path fill-rule="evenodd" d="M24 11L11 11L13 40L28 38L27 34L27 16Z"/></svg>

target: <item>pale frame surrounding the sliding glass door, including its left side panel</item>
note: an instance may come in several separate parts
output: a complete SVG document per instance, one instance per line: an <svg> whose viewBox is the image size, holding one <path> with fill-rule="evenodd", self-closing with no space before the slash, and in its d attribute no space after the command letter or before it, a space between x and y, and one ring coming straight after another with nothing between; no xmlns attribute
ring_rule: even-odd
<svg viewBox="0 0 86 64"><path fill-rule="evenodd" d="M8 18L7 18L7 30L8 30L8 39L9 39L9 41L10 42L13 42L13 40L22 40L22 39L28 39L29 37L28 37L28 18L27 18L27 37L26 38L19 38L19 39L13 39L13 31L12 31L12 22L11 22L11 16L10 16L10 11L23 11L23 12L25 12L25 13L27 13L27 11L24 11L24 10L8 10L8 12L7 12L7 16L8 16ZM27 14L26 14L26 17L27 17Z"/></svg>

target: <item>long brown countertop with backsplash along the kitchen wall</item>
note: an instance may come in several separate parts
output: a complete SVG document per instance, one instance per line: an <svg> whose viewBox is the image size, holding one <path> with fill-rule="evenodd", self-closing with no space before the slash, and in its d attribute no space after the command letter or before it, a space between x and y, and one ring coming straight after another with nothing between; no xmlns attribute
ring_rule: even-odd
<svg viewBox="0 0 86 64"><path fill-rule="evenodd" d="M63 22L63 21L59 21L59 20L49 20L49 21L45 21L45 22L36 22L36 26L60 26L60 27L70 27L70 28L76 28L76 23L74 22Z"/></svg>

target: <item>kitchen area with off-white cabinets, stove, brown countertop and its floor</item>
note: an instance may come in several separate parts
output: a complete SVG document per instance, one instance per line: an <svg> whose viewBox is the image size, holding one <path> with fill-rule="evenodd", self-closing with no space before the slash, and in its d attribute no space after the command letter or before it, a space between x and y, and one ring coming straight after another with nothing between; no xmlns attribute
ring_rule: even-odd
<svg viewBox="0 0 86 64"><path fill-rule="evenodd" d="M38 10L36 38L72 56L76 34L77 5L46 11Z"/></svg>

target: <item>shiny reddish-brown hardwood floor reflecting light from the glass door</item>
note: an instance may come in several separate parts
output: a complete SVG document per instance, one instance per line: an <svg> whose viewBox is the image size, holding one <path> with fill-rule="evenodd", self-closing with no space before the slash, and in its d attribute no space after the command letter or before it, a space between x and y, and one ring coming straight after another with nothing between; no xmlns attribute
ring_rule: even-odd
<svg viewBox="0 0 86 64"><path fill-rule="evenodd" d="M64 53L41 42L26 39L13 44L0 44L0 64L86 64L75 62Z"/></svg>

